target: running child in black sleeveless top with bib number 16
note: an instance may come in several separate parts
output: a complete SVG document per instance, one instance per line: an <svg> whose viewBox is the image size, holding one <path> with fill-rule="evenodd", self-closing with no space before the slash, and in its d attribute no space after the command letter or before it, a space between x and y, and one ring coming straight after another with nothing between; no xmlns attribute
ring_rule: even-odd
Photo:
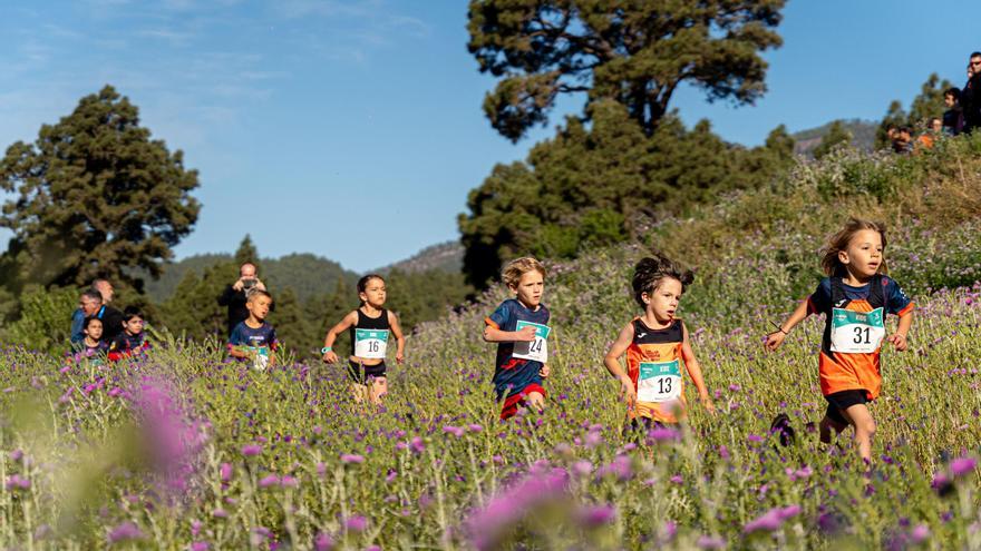
<svg viewBox="0 0 981 551"><path fill-rule="evenodd" d="M358 297L361 306L327 332L323 348L320 350L324 362L337 363L333 343L344 329L350 331L348 374L353 381L354 401L359 403L367 397L372 404L379 404L381 397L388 393L385 357L389 334L396 340L395 361L401 364L405 360L406 338L398 316L385 309L386 296L385 279L380 275L369 274L359 279Z"/></svg>

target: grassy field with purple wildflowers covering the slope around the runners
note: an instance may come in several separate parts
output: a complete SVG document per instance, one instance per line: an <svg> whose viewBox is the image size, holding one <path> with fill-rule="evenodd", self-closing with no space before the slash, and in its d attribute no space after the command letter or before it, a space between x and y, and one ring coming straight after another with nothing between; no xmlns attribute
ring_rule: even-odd
<svg viewBox="0 0 981 551"><path fill-rule="evenodd" d="M802 193L823 181L797 178ZM0 353L0 543L981 548L981 289L970 284L981 275L981 228L973 215L934 224L865 195L836 196L797 219L767 215L765 227L737 224L757 199L715 210L739 227L728 239L705 214L651 230L666 249L686 249L686 228L698 239L682 255L698 276L681 314L715 416L689 385L692 407L680 431L622 432L624 406L602 356L635 314L629 277L649 244L550 265L548 407L508 423L497 421L490 392L495 348L479 337L502 288L424 324L408 341L407 363L390 368L391 395L377 410L353 403L340 367L288 357L254 372L227 362L216 343L162 337L147 360L110 368L8 347ZM770 322L816 286L817 250L855 205L897 223L886 257L919 305L911 351L884 350L871 472L849 432L838 445L817 443L823 321L808 319L777 353L761 346ZM768 434L780 412L798 433L787 447Z"/></svg>

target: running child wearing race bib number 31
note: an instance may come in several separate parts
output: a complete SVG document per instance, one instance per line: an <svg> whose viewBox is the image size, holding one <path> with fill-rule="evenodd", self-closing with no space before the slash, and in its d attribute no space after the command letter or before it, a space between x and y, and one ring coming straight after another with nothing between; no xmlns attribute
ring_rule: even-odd
<svg viewBox="0 0 981 551"><path fill-rule="evenodd" d="M831 431L855 430L858 455L872 461L875 421L867 403L882 390L880 353L883 340L897 352L906 350L913 324L913 303L886 276L885 226L852 218L832 237L820 266L828 277L797 306L790 317L767 335L766 347L777 350L787 334L810 314L825 314L818 356L820 392L828 406L820 421L820 441L831 443ZM886 337L886 314L900 317L899 328Z"/></svg>

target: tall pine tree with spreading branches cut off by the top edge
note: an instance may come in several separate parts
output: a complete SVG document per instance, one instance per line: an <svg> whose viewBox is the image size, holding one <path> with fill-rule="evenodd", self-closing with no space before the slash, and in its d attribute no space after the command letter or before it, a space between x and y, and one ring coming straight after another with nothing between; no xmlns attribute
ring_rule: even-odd
<svg viewBox="0 0 981 551"><path fill-rule="evenodd" d="M518 140L561 94L622 104L651 136L678 86L709 100L752 104L766 91L761 51L781 45L785 0L470 0L467 45L502 78L484 101L490 124Z"/></svg>

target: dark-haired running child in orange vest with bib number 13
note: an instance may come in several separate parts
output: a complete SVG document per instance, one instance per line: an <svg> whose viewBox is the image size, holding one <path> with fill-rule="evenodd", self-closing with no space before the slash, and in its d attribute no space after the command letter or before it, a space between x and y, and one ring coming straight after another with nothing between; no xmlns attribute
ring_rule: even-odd
<svg viewBox="0 0 981 551"><path fill-rule="evenodd" d="M695 275L681 270L666 256L655 253L642 258L633 270L633 298L643 308L621 331L610 346L603 364L620 380L627 415L633 429L650 430L653 424L673 424L684 417L684 380L681 365L698 390L699 401L709 412L715 404L701 376L701 367L691 351L688 327L676 317L681 295ZM627 354L627 372L620 358Z"/></svg>

